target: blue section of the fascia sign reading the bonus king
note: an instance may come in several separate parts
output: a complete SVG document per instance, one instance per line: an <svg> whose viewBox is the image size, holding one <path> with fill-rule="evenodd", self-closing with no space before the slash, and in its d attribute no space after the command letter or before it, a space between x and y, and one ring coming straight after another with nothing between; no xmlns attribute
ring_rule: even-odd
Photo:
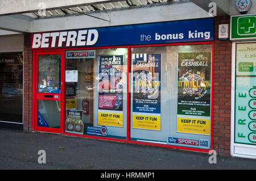
<svg viewBox="0 0 256 181"><path fill-rule="evenodd" d="M96 30L98 41L94 46L213 41L214 19L136 24Z"/></svg>

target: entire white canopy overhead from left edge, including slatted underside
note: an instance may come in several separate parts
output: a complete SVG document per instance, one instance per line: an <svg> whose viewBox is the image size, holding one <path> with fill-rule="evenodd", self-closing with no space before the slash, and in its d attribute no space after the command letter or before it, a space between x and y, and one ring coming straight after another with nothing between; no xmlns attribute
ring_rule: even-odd
<svg viewBox="0 0 256 181"><path fill-rule="evenodd" d="M207 11L189 0L128 0L111 3L109 1L46 10L45 16L40 16L39 12L0 15L0 29L43 32L209 17L212 16Z"/></svg>

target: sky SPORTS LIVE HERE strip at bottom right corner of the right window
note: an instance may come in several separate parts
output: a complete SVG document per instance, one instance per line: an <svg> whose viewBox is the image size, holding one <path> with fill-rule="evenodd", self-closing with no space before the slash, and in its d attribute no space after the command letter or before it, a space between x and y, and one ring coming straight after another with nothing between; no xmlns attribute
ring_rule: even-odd
<svg viewBox="0 0 256 181"><path fill-rule="evenodd" d="M196 138L168 137L167 144L177 146L190 146L194 148L210 148L210 141Z"/></svg>

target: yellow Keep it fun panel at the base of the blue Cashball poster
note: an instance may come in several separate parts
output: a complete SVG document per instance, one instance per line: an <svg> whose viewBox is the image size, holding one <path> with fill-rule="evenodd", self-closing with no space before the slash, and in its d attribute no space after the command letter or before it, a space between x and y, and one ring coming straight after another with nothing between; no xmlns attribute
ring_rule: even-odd
<svg viewBox="0 0 256 181"><path fill-rule="evenodd" d="M151 115L133 115L133 128L161 130L161 117Z"/></svg>

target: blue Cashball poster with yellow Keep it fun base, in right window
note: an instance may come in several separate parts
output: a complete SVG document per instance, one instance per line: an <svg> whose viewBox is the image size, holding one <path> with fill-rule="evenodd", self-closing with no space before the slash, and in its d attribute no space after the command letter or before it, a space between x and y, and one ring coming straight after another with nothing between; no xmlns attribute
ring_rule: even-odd
<svg viewBox="0 0 256 181"><path fill-rule="evenodd" d="M133 54L133 128L160 131L161 54Z"/></svg>

